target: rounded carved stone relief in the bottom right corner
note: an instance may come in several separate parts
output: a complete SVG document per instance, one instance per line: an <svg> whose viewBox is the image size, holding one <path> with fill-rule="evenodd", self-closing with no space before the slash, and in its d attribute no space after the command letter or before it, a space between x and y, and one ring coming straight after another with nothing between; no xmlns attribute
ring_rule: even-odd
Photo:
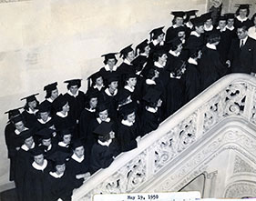
<svg viewBox="0 0 256 201"><path fill-rule="evenodd" d="M228 186L224 197L241 198L244 196L255 196L256 184L251 182L237 182Z"/></svg>

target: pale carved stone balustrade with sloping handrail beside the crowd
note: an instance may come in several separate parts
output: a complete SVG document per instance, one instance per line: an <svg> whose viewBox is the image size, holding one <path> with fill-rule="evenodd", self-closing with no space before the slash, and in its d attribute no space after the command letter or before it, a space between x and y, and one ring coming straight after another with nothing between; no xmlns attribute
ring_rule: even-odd
<svg viewBox="0 0 256 201"><path fill-rule="evenodd" d="M220 78L188 104L182 106L175 114L169 116L157 130L144 136L138 142L138 148L120 154L111 166L97 171L83 186L74 191L72 199L91 200L94 194L132 192L162 168L162 164L156 166L156 157L158 157L156 153L159 150L156 146L158 148L172 146L170 149L174 153L173 157L178 156L190 144L203 136L211 126L214 126L214 124L209 125L210 119L208 118L211 113L214 113L216 103L218 105L222 101L220 105L225 104L223 108L217 106L217 109L221 110L218 111L221 112L220 118L236 115L255 124L255 89L256 78L252 75L231 74ZM236 93L241 94L236 95ZM227 95L225 101L220 98L221 95ZM195 121L197 124L193 123Z"/></svg>

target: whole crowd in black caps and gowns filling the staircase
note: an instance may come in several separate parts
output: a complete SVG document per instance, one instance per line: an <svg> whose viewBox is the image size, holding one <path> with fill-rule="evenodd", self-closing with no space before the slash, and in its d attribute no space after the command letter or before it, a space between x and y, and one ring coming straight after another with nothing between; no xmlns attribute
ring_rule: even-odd
<svg viewBox="0 0 256 201"><path fill-rule="evenodd" d="M64 95L56 82L44 86L41 103L38 94L22 98L26 106L6 112L5 126L19 200L70 200L73 189L221 76L254 75L256 20L249 12L250 5L240 5L216 25L212 13L172 12L166 34L162 26L135 50L102 55L104 66L87 78L86 93L81 79L72 79Z"/></svg>

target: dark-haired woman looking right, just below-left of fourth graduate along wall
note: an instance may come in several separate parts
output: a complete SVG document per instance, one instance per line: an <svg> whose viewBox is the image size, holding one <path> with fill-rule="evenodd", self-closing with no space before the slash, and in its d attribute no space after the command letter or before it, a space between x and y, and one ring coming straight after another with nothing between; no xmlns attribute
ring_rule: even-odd
<svg viewBox="0 0 256 201"><path fill-rule="evenodd" d="M74 122L69 116L69 103L67 102L66 96L58 95L54 103L54 108L56 114L53 116L53 120L56 130L74 126Z"/></svg>

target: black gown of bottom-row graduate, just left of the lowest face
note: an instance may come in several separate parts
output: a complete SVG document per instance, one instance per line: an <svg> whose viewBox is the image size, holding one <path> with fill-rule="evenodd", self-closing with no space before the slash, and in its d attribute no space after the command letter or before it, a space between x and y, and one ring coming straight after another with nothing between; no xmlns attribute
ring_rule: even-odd
<svg viewBox="0 0 256 201"><path fill-rule="evenodd" d="M24 183L24 197L26 201L44 201L46 192L44 188L46 175L51 170L51 163L47 161L44 170L38 170L34 166L27 167Z"/></svg>

